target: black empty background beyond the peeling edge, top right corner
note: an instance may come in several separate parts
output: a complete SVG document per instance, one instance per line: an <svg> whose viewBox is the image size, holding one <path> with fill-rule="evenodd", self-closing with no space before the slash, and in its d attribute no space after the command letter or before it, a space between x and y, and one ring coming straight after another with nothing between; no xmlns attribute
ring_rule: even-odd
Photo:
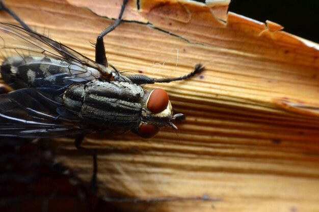
<svg viewBox="0 0 319 212"><path fill-rule="evenodd" d="M319 0L233 0L229 11L273 21L284 26L285 32L319 43Z"/></svg>

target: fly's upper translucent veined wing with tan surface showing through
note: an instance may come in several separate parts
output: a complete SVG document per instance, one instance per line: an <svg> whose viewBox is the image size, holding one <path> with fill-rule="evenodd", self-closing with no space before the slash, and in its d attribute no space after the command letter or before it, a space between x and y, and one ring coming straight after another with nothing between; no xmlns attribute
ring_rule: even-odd
<svg viewBox="0 0 319 212"><path fill-rule="evenodd" d="M32 55L62 60L75 69L75 73L70 73L75 81L82 74L86 80L100 77L114 80L118 76L116 70L103 67L61 43L13 24L0 23L0 51L5 57L17 55L24 58Z"/></svg>

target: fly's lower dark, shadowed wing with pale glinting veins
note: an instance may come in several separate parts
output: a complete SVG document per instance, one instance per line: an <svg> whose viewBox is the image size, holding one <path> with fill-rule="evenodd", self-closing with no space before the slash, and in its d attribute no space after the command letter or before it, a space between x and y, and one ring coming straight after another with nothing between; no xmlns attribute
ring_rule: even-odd
<svg viewBox="0 0 319 212"><path fill-rule="evenodd" d="M92 133L82 120L54 101L54 90L23 88L0 95L0 136L60 137Z"/></svg>

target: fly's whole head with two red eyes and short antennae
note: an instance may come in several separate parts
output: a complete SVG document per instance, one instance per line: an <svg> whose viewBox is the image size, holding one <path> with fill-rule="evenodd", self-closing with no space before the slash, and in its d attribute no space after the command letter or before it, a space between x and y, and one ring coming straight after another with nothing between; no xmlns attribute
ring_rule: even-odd
<svg viewBox="0 0 319 212"><path fill-rule="evenodd" d="M173 115L173 108L166 91L161 88L156 88L151 90L146 96L147 99L142 110L138 134L142 138L151 138L155 136L160 129L167 126L177 130L172 120L183 114L178 113Z"/></svg>

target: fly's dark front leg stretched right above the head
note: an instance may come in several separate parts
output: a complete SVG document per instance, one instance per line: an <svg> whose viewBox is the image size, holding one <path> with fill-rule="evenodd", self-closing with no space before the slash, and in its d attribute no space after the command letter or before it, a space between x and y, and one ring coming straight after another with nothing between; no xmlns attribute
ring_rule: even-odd
<svg viewBox="0 0 319 212"><path fill-rule="evenodd" d="M196 74L201 73L204 70L204 66L202 64L197 64L194 68L194 71L189 73L188 75L184 75L181 77L176 77L176 78L151 78L146 75L142 74L135 74L128 76L128 78L135 84L154 84L156 82L173 82L173 81L179 81L179 80L184 80L193 77Z"/></svg>

